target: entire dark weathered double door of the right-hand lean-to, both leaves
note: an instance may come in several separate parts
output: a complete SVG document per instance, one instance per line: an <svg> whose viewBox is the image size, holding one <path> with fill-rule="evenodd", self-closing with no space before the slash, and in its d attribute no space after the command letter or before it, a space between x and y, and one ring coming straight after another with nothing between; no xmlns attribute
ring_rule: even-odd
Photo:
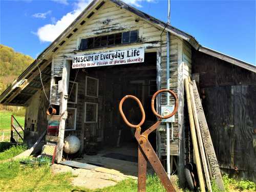
<svg viewBox="0 0 256 192"><path fill-rule="evenodd" d="M223 168L256 170L256 86L204 88L203 107Z"/></svg>

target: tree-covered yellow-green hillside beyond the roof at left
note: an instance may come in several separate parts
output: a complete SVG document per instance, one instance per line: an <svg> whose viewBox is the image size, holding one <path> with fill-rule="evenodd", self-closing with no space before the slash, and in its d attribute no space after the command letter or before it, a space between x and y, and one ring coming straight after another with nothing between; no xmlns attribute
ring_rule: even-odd
<svg viewBox="0 0 256 192"><path fill-rule="evenodd" d="M33 58L0 44L0 94L32 62Z"/></svg>

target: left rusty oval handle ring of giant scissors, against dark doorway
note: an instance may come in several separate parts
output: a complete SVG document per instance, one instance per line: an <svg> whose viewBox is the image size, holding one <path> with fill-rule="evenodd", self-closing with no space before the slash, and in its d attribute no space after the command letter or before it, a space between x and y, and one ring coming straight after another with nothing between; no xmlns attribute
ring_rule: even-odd
<svg viewBox="0 0 256 192"><path fill-rule="evenodd" d="M124 113L123 113L122 105L123 105L123 102L125 101L125 99L128 99L128 98L134 99L134 100L139 104L140 111L141 111L141 113L142 113L142 119L141 119L140 123L137 124L137 125L130 123L130 122L126 119L126 117L125 117L125 115L124 115ZM133 95L126 95L126 96L124 96L124 97L121 99L121 101L120 101L120 103L119 103L119 111L120 111L120 113L121 113L121 116L122 116L124 122L125 122L128 126L137 128L137 127L140 127L140 126L144 123L144 121L145 121L145 111L144 111L144 109L143 109L143 106L142 106L140 100L139 100L137 97L133 96Z"/></svg>

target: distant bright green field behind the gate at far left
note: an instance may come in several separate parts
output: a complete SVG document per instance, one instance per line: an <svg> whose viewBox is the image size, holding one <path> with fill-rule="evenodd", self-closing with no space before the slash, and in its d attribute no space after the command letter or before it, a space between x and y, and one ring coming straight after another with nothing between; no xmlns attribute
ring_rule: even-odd
<svg viewBox="0 0 256 192"><path fill-rule="evenodd" d="M14 113L9 111L0 111L0 131L6 131L11 129L11 115ZM15 116L20 125L24 127L25 117L24 116Z"/></svg>

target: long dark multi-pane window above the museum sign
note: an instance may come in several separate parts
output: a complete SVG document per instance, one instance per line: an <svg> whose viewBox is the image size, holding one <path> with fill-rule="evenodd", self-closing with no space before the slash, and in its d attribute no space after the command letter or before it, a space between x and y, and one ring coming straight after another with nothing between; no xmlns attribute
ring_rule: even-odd
<svg viewBox="0 0 256 192"><path fill-rule="evenodd" d="M79 50L99 48L105 46L114 46L120 44L128 44L138 41L138 31L127 31L110 35L102 35L97 37L81 39Z"/></svg>

